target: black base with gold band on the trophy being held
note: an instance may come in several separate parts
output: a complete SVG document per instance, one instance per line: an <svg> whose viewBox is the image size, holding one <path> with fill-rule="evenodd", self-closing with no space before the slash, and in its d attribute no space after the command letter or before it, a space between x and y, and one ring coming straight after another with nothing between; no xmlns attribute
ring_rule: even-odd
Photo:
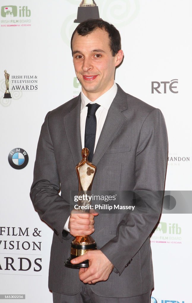
<svg viewBox="0 0 192 303"><path fill-rule="evenodd" d="M71 254L70 258L68 258L65 261L65 266L70 267L70 268L87 268L89 267L89 260L85 260L79 264L72 264L70 261L74 258L77 258L78 256L82 256L85 254L85 252L89 250L95 250L97 249L97 244L92 243L92 244L86 244L86 245L79 245L79 244L74 244L73 242L71 243Z"/></svg>

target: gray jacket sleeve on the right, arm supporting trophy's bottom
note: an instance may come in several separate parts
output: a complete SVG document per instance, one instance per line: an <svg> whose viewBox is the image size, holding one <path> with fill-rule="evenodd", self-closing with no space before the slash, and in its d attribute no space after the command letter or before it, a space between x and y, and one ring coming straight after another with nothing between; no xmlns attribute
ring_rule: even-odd
<svg viewBox="0 0 192 303"><path fill-rule="evenodd" d="M114 265L114 271L119 275L130 264L159 219L167 152L165 120L162 112L155 108L147 115L140 130L135 154L135 186L133 188L135 196L142 196L142 200L147 202L152 211L126 214L117 227L116 237L101 248ZM135 201L137 203L137 198Z"/></svg>

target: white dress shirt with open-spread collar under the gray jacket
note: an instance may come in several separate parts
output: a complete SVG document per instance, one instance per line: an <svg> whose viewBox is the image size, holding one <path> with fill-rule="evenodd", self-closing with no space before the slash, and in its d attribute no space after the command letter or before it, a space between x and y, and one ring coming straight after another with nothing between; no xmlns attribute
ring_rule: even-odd
<svg viewBox="0 0 192 303"><path fill-rule="evenodd" d="M101 135L103 125L105 123L105 119L107 117L108 110L111 106L111 103L113 102L113 99L115 98L116 93L117 93L117 85L114 82L113 86L107 92L105 92L103 95L101 95L99 98L97 98L94 102L92 102L85 96L85 94L83 93L82 88L81 88L81 145L82 145L82 148L86 147L86 146L84 146L85 123L86 123L87 110L88 110L86 105L88 103L90 103L90 104L97 103L100 105L100 107L98 108L98 110L95 113L95 116L97 119L97 129L96 129L95 146L94 146L94 151L95 151L99 137ZM69 229L68 229L69 218L67 219L65 226L64 226L64 229L66 231L69 231Z"/></svg>

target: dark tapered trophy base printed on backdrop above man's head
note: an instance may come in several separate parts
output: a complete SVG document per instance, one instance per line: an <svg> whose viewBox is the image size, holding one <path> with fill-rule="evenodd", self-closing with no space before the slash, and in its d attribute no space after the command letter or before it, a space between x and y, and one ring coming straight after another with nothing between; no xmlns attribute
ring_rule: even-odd
<svg viewBox="0 0 192 303"><path fill-rule="evenodd" d="M98 6L78 7L77 19L74 20L74 23L81 23L87 19L100 19Z"/></svg>

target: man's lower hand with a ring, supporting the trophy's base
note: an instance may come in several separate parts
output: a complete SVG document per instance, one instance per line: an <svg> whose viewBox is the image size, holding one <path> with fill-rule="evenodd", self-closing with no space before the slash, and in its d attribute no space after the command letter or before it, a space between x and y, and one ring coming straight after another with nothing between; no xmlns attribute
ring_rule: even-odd
<svg viewBox="0 0 192 303"><path fill-rule="evenodd" d="M84 255L71 260L71 263L78 264L89 260L88 268L80 268L79 278L83 283L94 284L99 281L106 281L114 268L114 265L100 250L87 251Z"/></svg>

